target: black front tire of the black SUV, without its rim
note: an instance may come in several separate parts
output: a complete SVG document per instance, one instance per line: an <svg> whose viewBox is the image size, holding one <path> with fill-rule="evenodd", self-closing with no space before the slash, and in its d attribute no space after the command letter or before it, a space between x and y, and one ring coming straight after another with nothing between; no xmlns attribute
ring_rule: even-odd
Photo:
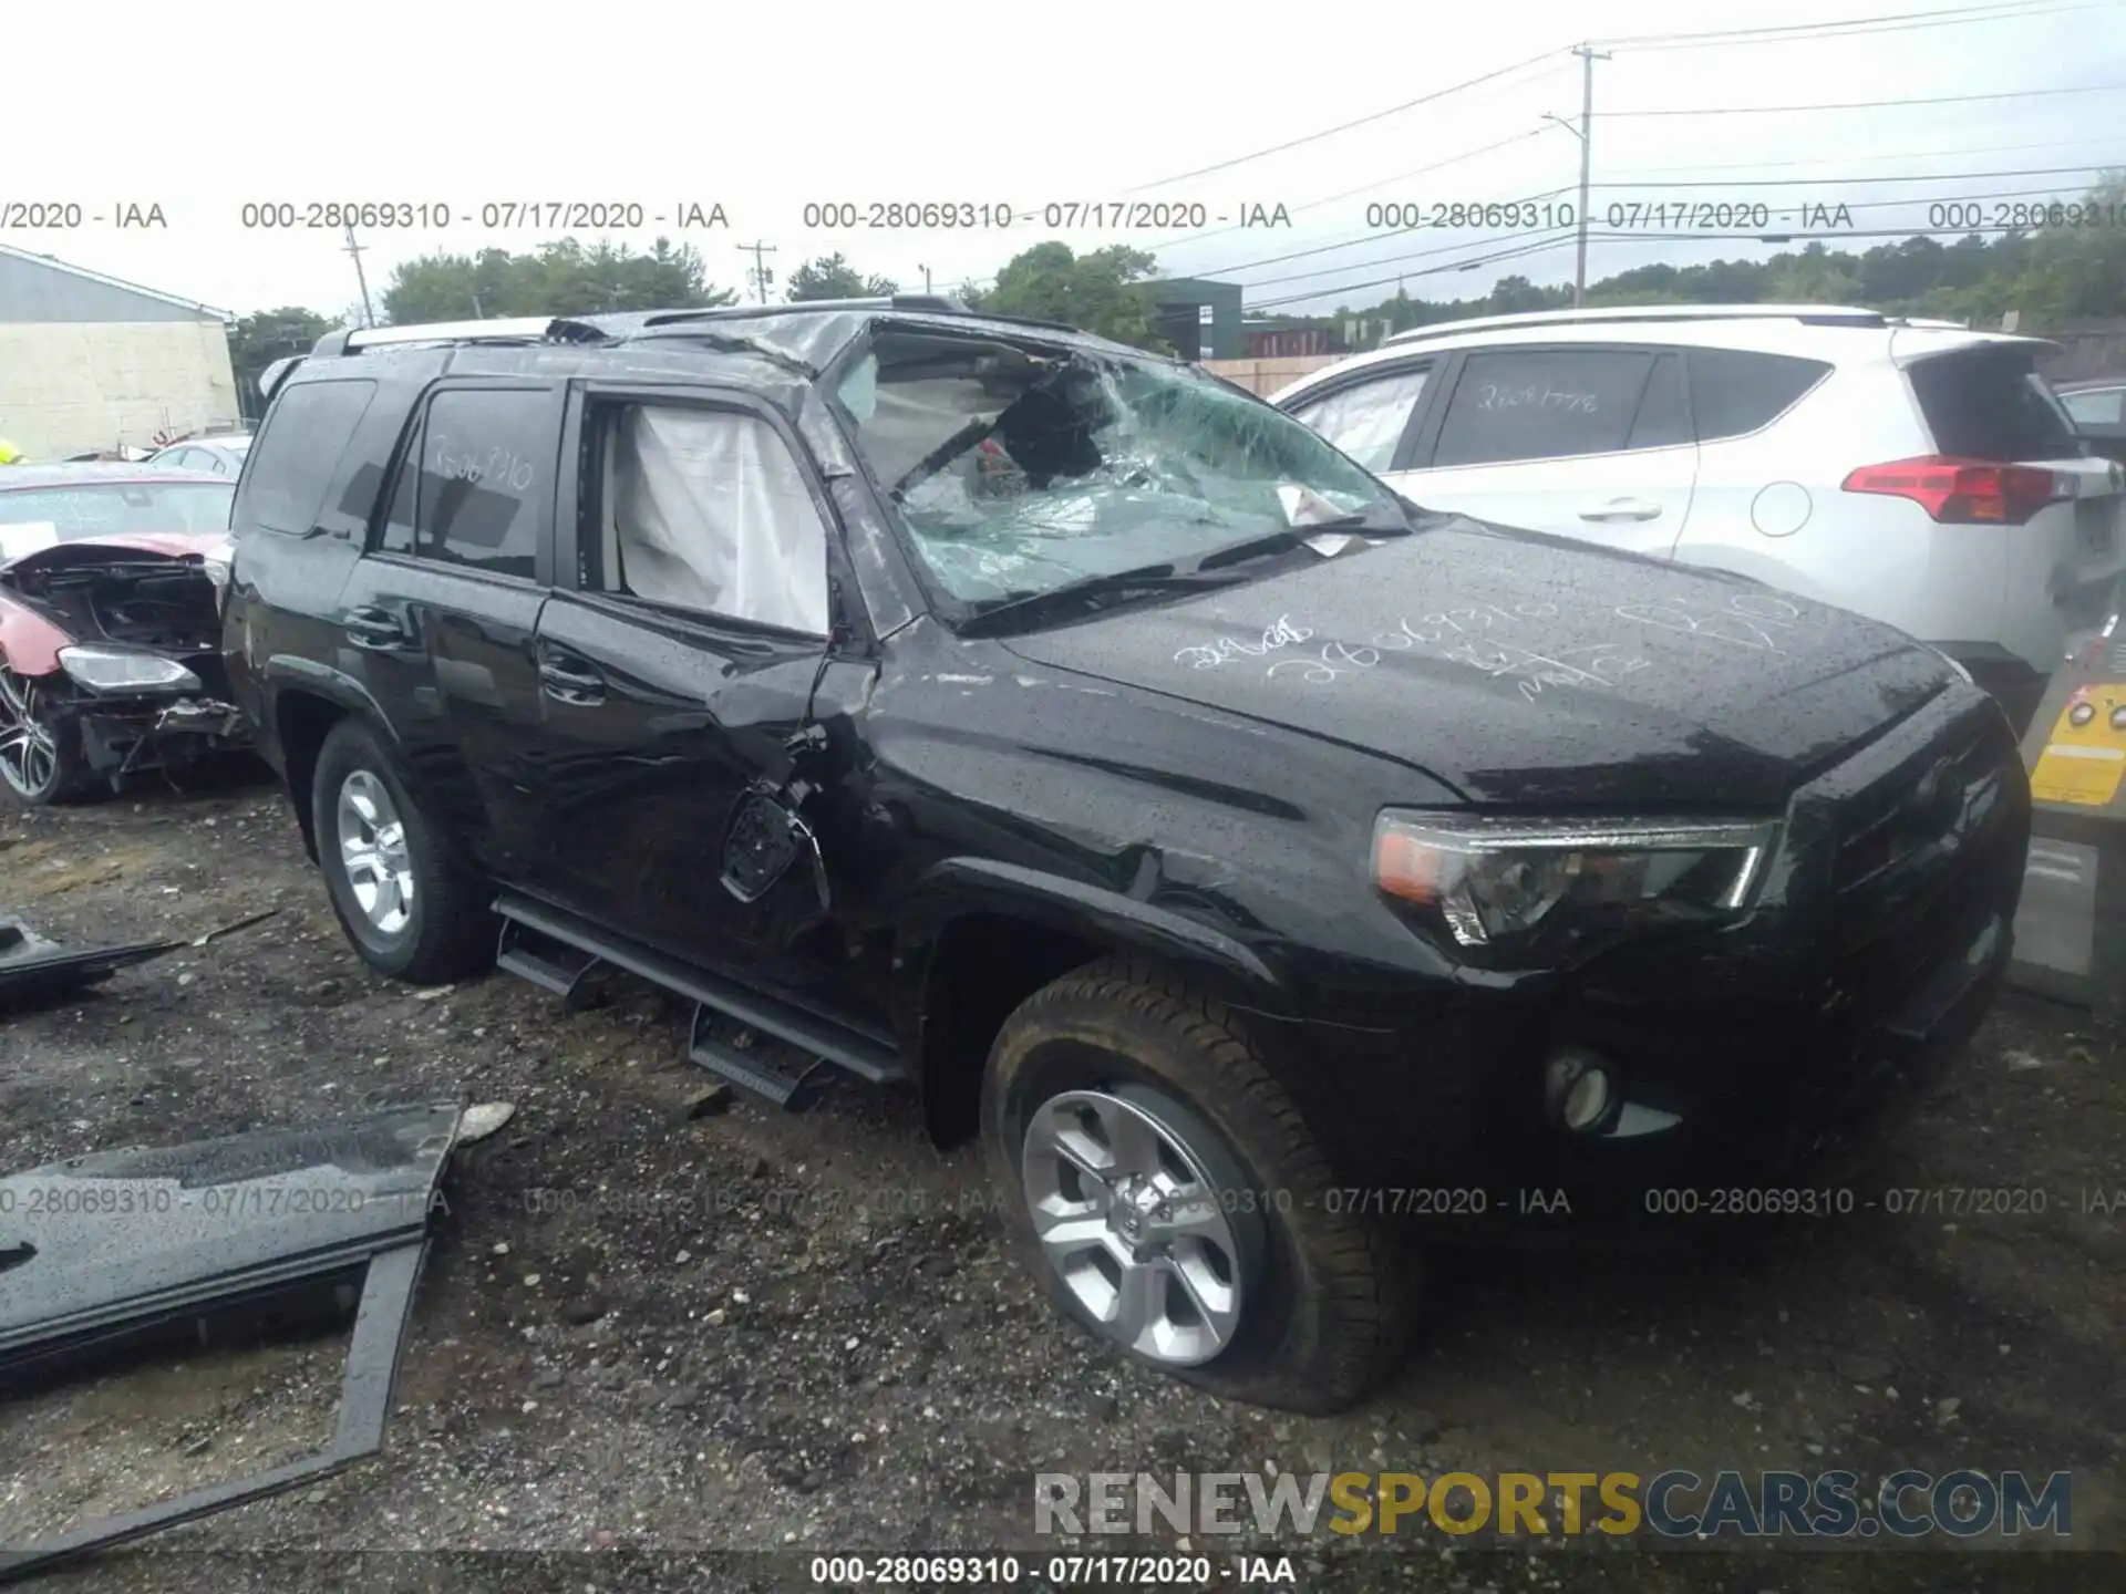
<svg viewBox="0 0 2126 1594"><path fill-rule="evenodd" d="M1239 1014L1129 959L1093 963L1020 1003L982 1082L984 1156L1012 1243L1065 1316L1101 1335L1042 1252L1020 1175L1035 1109L1063 1090L1163 1101L1222 1209L1246 1218L1235 1224L1242 1307L1231 1341L1195 1367L1144 1358L1148 1367L1233 1401L1331 1413L1401 1362L1418 1258L1335 1199L1327 1158Z"/></svg>

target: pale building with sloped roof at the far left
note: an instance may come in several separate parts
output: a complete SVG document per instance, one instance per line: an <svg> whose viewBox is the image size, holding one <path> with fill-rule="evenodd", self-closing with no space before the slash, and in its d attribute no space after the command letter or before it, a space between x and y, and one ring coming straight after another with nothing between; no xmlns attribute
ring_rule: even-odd
<svg viewBox="0 0 2126 1594"><path fill-rule="evenodd" d="M26 459L234 423L230 317L0 244L0 438Z"/></svg>

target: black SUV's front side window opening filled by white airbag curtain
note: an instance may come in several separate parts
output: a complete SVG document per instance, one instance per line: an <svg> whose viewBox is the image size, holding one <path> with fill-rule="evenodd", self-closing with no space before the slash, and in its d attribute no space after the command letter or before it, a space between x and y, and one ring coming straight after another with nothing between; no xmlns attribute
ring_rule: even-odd
<svg viewBox="0 0 2126 1594"><path fill-rule="evenodd" d="M602 434L604 591L827 635L827 523L767 421L627 404Z"/></svg>

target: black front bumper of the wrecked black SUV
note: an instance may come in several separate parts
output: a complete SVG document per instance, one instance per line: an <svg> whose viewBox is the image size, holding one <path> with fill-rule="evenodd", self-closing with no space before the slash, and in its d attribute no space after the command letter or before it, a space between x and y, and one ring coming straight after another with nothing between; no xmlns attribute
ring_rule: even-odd
<svg viewBox="0 0 2126 1594"><path fill-rule="evenodd" d="M1395 1018L1297 1024L1290 1080L1344 1184L1465 1226L1633 1216L1663 1190L1799 1188L1937 1082L2005 978L2030 823L2003 716L1969 689L1952 699L1796 793L1743 925ZM1937 765L1933 791L1950 795L1928 820L1911 793ZM1618 1082L1622 1109L1590 1133L1546 1116L1560 1048Z"/></svg>

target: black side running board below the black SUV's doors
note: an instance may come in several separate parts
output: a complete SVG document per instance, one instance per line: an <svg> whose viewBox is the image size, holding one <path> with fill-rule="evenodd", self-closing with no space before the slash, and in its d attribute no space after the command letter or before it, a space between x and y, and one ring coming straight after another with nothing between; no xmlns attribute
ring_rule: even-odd
<svg viewBox="0 0 2126 1594"><path fill-rule="evenodd" d="M580 1003L585 978L600 965L625 969L695 1003L689 1056L710 1073L793 1112L810 1107L833 1071L872 1084L908 1078L899 1048L882 1035L853 1029L791 1001L723 980L638 942L593 931L572 914L527 897L495 899L502 944L495 963L532 984ZM782 1041L782 1048L740 1048L710 1037L714 1016ZM802 1056L774 1056L791 1048Z"/></svg>

